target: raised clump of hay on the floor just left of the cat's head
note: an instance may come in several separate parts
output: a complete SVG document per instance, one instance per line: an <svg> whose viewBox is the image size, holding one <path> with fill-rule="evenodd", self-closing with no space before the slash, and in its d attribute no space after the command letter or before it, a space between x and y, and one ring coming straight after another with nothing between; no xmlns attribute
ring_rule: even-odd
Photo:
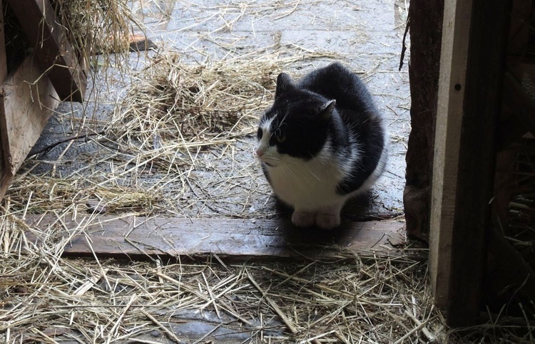
<svg viewBox="0 0 535 344"><path fill-rule="evenodd" d="M108 135L128 150L167 162L177 160L175 152L191 160L198 147L234 142L256 132L278 73L296 61L333 55L296 49L290 56L258 52L192 65L179 53L158 53L136 74L107 125Z"/></svg>

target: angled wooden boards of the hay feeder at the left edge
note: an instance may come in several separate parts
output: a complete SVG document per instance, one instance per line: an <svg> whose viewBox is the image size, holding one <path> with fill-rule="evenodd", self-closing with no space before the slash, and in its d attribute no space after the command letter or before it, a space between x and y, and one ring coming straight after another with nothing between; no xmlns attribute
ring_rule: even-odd
<svg viewBox="0 0 535 344"><path fill-rule="evenodd" d="M24 32L6 36L3 14L14 14ZM61 100L83 101L86 71L58 24L49 0L0 0L0 199ZM6 44L26 40L33 53L11 52ZM11 46L19 46L11 44ZM21 61L11 63L13 57ZM6 66L14 66L8 71ZM8 75L9 73L9 75Z"/></svg>

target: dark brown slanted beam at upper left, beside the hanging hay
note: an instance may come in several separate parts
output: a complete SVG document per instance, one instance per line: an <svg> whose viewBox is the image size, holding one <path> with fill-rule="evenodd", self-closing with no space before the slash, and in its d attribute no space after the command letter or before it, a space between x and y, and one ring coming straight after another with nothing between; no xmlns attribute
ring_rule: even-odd
<svg viewBox="0 0 535 344"><path fill-rule="evenodd" d="M86 74L78 64L49 0L7 0L19 19L39 66L61 100L83 102Z"/></svg>

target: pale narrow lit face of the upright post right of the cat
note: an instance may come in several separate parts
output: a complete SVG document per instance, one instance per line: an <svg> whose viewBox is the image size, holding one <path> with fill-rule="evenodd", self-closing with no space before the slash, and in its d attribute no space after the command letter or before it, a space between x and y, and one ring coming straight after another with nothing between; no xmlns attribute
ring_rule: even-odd
<svg viewBox="0 0 535 344"><path fill-rule="evenodd" d="M444 3L429 229L429 274L434 300L441 308L447 306L449 299L457 167L466 91L467 32L470 30L471 14L472 1Z"/></svg>

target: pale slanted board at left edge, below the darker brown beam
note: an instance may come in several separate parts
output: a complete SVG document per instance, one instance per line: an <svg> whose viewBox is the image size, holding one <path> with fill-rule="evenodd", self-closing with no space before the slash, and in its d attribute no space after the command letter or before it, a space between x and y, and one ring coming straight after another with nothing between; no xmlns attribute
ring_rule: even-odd
<svg viewBox="0 0 535 344"><path fill-rule="evenodd" d="M26 58L0 86L0 134L6 167L0 199L59 104L49 78L41 75L33 61L33 55Z"/></svg>

